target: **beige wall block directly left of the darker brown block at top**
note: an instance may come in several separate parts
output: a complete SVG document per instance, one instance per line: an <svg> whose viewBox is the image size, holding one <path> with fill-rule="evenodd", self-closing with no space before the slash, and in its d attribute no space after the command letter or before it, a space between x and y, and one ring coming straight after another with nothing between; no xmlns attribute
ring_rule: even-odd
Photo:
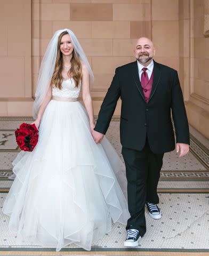
<svg viewBox="0 0 209 256"><path fill-rule="evenodd" d="M41 4L41 20L70 20L70 4Z"/></svg>

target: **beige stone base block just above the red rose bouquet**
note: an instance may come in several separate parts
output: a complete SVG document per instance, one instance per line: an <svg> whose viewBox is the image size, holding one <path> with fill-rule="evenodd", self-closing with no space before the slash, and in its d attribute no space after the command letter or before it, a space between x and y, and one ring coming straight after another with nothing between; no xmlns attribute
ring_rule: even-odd
<svg viewBox="0 0 209 256"><path fill-rule="evenodd" d="M7 102L7 115L8 116L31 116L33 113L33 101L22 102Z"/></svg>

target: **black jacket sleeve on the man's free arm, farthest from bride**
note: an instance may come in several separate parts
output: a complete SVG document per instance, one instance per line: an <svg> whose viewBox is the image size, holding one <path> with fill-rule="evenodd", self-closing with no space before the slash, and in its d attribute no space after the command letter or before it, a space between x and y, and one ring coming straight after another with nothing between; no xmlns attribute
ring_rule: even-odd
<svg viewBox="0 0 209 256"><path fill-rule="evenodd" d="M175 126L176 143L179 142L189 144L189 125L177 71L175 71L172 86L171 109Z"/></svg>

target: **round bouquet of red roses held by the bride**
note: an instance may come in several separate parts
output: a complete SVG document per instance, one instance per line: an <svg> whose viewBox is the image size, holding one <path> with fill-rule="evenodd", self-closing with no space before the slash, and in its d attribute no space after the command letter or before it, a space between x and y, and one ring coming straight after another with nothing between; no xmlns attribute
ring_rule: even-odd
<svg viewBox="0 0 209 256"><path fill-rule="evenodd" d="M15 130L18 146L24 151L33 151L38 142L38 130L35 124L22 123L20 129Z"/></svg>

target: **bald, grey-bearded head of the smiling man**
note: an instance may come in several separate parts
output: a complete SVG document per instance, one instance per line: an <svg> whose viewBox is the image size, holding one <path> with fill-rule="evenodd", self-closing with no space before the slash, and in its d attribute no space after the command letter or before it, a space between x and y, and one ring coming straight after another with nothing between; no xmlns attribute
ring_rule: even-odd
<svg viewBox="0 0 209 256"><path fill-rule="evenodd" d="M143 66L148 66L155 55L155 48L149 38L141 37L134 47L134 55Z"/></svg>

